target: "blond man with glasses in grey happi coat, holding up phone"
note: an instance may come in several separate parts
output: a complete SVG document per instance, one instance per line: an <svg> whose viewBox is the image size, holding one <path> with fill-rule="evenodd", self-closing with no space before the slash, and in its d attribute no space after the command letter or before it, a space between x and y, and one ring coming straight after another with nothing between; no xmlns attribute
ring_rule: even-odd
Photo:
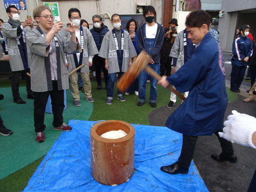
<svg viewBox="0 0 256 192"><path fill-rule="evenodd" d="M49 96L52 99L53 129L72 129L63 123L62 116L65 107L64 89L69 88L64 53L81 52L81 47L72 22L69 22L70 29L66 29L70 32L71 38L58 34L63 25L59 20L53 24L54 17L48 6L35 7L33 17L38 26L27 33L26 40L31 52L31 87L35 95L35 140L40 143L45 141L44 111Z"/></svg>

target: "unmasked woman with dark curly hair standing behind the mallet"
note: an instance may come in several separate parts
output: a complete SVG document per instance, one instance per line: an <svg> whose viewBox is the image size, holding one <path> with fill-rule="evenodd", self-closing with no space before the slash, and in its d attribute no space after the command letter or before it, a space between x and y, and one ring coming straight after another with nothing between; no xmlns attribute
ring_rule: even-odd
<svg viewBox="0 0 256 192"><path fill-rule="evenodd" d="M137 22L134 19L130 19L128 20L127 24L126 24L126 29L128 30L130 37L131 37L131 41L134 45L135 51L137 52L137 55L139 54L139 51L137 49ZM128 88L128 90L125 92L125 95L129 95L130 93L134 92L135 95L139 95L139 79L137 78L133 84L131 84L131 86Z"/></svg>

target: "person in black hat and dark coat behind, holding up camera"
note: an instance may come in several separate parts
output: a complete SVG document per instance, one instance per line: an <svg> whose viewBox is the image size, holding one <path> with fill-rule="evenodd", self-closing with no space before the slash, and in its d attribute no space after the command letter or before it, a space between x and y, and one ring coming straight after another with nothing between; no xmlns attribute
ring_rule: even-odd
<svg viewBox="0 0 256 192"><path fill-rule="evenodd" d="M172 72L172 57L169 57L169 55L177 35L176 26L178 26L178 21L173 18L169 22L169 27L164 29L166 33L164 35L163 47L161 49L161 76L170 76Z"/></svg>

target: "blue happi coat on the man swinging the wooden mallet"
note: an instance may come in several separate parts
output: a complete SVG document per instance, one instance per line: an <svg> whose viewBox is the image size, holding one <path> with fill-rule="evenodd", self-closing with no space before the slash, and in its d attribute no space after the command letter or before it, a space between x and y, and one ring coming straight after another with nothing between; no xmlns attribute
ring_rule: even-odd
<svg viewBox="0 0 256 192"><path fill-rule="evenodd" d="M180 93L189 96L167 119L166 126L189 135L212 135L221 130L227 108L221 49L208 32L195 53L172 76L167 77Z"/></svg>

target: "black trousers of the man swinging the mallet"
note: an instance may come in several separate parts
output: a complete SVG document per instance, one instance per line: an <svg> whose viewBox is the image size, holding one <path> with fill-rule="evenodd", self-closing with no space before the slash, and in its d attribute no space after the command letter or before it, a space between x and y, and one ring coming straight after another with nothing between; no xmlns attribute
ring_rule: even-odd
<svg viewBox="0 0 256 192"><path fill-rule="evenodd" d="M233 155L233 145L230 141L225 140L220 137L218 132L223 132L222 130L216 131L214 134L218 137L221 143L222 154L226 157ZM188 136L183 134L183 143L181 148L180 157L178 159L178 164L184 168L189 168L193 154L195 151L195 144L198 140L198 136Z"/></svg>

